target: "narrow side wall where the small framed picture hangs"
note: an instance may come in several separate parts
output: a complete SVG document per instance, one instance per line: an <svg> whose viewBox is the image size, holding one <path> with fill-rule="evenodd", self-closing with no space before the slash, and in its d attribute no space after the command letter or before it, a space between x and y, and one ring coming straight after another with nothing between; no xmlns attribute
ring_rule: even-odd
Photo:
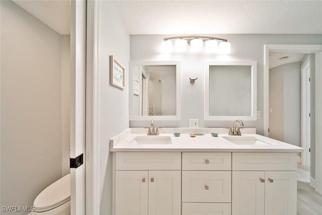
<svg viewBox="0 0 322 215"><path fill-rule="evenodd" d="M100 15L100 214L112 213L112 153L110 138L129 127L128 64L130 36L115 2L102 1ZM111 86L109 55L125 67L125 89Z"/></svg>

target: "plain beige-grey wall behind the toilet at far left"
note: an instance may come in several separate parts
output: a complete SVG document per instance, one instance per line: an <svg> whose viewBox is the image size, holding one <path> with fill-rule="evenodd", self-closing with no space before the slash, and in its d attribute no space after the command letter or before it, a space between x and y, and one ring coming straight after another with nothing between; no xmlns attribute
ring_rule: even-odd
<svg viewBox="0 0 322 215"><path fill-rule="evenodd" d="M31 206L61 177L60 35L11 1L0 4L1 205Z"/></svg>

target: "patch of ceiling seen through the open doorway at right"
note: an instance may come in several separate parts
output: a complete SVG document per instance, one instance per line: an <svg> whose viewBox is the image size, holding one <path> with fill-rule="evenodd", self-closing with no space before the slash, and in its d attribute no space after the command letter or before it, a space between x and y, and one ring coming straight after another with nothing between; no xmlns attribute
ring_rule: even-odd
<svg viewBox="0 0 322 215"><path fill-rule="evenodd" d="M305 54L303 53L288 53L288 52L270 52L269 54L269 68L274 68L276 66L302 61ZM285 60L280 60L279 58L288 56Z"/></svg>

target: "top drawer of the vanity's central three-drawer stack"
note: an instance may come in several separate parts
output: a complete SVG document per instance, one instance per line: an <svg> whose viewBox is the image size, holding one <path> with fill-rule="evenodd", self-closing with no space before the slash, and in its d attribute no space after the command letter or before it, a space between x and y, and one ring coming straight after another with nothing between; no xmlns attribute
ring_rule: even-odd
<svg viewBox="0 0 322 215"><path fill-rule="evenodd" d="M182 153L182 170L231 170L231 153Z"/></svg>

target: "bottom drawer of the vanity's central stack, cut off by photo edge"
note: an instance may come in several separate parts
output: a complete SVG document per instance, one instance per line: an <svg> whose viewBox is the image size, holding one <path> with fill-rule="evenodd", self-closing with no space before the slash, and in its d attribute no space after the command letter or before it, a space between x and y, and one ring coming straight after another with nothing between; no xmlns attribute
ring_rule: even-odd
<svg viewBox="0 0 322 215"><path fill-rule="evenodd" d="M230 203L182 203L182 215L231 215Z"/></svg>

